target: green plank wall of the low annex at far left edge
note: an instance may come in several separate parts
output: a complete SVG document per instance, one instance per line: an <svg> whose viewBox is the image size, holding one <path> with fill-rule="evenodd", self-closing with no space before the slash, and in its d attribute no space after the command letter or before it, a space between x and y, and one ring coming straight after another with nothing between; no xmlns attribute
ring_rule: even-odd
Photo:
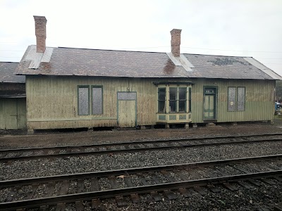
<svg viewBox="0 0 282 211"><path fill-rule="evenodd" d="M0 98L0 129L25 128L25 98Z"/></svg>

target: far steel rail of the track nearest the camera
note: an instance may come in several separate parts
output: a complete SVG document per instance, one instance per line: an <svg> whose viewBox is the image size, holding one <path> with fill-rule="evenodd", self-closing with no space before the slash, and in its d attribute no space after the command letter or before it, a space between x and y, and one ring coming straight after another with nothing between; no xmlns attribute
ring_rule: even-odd
<svg viewBox="0 0 282 211"><path fill-rule="evenodd" d="M152 166L152 167L137 167L130 169L122 169L122 170L106 170L101 172L84 172L78 174L62 174L62 175L48 176L48 177L13 179L13 180L0 181L0 188L4 188L8 186L23 186L28 184L47 183L50 181L85 179L90 177L109 177L109 176L129 175L129 174L137 174L144 172L154 172L161 170L180 170L184 168L192 168L192 167L200 167L200 166L224 165L224 164L231 164L238 162L272 160L272 159L281 159L281 158L282 158L282 154L264 155L264 156L248 157L248 158L212 160L212 161L203 161L203 162L188 162L188 163L177 164L177 165L160 165L160 166Z"/></svg>

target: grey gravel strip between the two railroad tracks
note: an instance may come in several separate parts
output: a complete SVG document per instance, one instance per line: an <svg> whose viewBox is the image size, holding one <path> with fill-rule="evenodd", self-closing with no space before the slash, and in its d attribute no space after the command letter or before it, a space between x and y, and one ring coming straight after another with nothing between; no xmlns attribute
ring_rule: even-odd
<svg viewBox="0 0 282 211"><path fill-rule="evenodd" d="M73 174L78 172L170 165L176 163L222 160L281 153L282 143L278 142L21 160L11 163L1 162L0 178L2 180L7 180L27 177L44 177L56 174Z"/></svg>

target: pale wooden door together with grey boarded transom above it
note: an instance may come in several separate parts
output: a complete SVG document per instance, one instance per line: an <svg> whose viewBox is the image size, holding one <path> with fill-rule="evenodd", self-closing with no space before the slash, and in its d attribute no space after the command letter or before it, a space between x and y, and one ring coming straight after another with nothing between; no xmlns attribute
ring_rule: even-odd
<svg viewBox="0 0 282 211"><path fill-rule="evenodd" d="M118 127L136 127L136 92L118 91Z"/></svg>

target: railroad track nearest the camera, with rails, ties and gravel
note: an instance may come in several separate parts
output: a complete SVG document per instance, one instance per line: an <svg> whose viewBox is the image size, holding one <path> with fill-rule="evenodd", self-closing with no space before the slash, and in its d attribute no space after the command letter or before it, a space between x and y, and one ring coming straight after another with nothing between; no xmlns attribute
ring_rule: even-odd
<svg viewBox="0 0 282 211"><path fill-rule="evenodd" d="M190 197L190 188L204 195L220 191L218 186L235 191L281 182L282 154L65 174L0 181L0 210L65 210L66 203L75 203L76 210L83 210L85 200L97 208L100 199L114 197L123 206L124 196L139 203L140 193L150 194L155 201L161 200L160 193L172 200L177 198L176 191Z"/></svg>

